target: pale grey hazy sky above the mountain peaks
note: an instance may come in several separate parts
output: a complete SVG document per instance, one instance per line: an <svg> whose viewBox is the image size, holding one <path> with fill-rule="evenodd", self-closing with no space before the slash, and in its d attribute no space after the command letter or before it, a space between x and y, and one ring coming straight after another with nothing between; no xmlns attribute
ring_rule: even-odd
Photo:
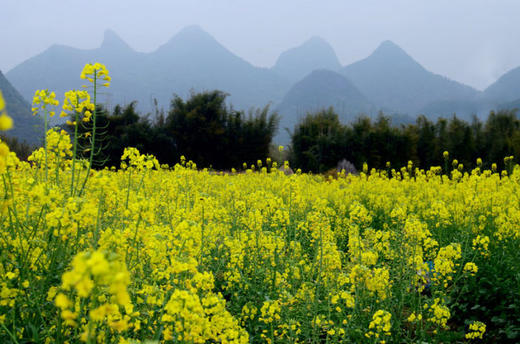
<svg viewBox="0 0 520 344"><path fill-rule="evenodd" d="M98 47L107 28L147 52L198 24L264 67L312 36L344 65L390 39L430 71L483 89L520 66L519 15L519 0L0 0L0 70L54 43Z"/></svg>

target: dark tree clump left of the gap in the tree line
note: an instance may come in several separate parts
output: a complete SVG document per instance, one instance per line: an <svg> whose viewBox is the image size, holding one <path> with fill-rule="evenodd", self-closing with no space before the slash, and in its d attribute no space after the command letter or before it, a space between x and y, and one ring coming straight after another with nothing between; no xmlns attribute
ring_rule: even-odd
<svg viewBox="0 0 520 344"><path fill-rule="evenodd" d="M226 97L221 91L192 93L187 100L174 96L168 113L156 111L154 119L139 116L135 102L118 105L110 113L99 108L96 167L119 166L125 147L153 154L161 164L174 165L184 155L199 167L219 170L266 158L278 116L269 106L248 113L234 110L226 105ZM91 127L80 128L80 146L88 147L90 137L85 134Z"/></svg>

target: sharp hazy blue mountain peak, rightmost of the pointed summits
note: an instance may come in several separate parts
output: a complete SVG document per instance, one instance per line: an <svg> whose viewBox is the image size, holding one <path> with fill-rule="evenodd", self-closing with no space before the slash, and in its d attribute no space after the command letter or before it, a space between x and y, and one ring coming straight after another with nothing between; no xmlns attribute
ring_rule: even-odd
<svg viewBox="0 0 520 344"><path fill-rule="evenodd" d="M378 106L417 114L436 101L472 100L479 92L426 70L396 44L385 41L341 73Z"/></svg>

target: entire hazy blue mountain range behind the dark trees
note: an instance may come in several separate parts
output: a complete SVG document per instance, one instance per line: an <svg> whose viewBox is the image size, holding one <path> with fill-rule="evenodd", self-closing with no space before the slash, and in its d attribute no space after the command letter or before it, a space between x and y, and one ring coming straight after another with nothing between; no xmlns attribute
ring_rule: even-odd
<svg viewBox="0 0 520 344"><path fill-rule="evenodd" d="M454 112L469 118L473 114L485 117L490 109L514 106L520 100L520 67L479 91L426 70L390 41L365 59L341 66L334 49L313 37L283 52L272 68L259 68L198 26L186 27L151 53L133 50L107 30L99 48L53 45L14 67L6 77L27 101L42 88L62 96L81 87L81 69L92 62L104 63L112 76L111 87L101 95L109 107L137 100L138 109L152 112L154 99L167 109L173 94L188 97L191 90L219 89L230 94L228 100L237 109L271 103L281 116L277 140L282 143L289 138L283 128L291 130L308 111L329 106L343 121L359 113L374 116L380 110L411 118ZM4 84L0 83L2 91L7 87ZM13 112L16 123L19 115ZM20 116L20 120L25 118Z"/></svg>

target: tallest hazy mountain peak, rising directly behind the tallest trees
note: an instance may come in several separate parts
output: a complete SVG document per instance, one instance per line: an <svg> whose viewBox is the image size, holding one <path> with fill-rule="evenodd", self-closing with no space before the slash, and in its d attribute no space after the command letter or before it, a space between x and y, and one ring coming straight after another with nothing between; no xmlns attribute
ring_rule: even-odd
<svg viewBox="0 0 520 344"><path fill-rule="evenodd" d="M219 89L239 108L279 101L290 87L276 73L258 68L224 48L198 26L181 30L149 55L149 70L159 98L172 93ZM167 71L167 72L165 72Z"/></svg>

